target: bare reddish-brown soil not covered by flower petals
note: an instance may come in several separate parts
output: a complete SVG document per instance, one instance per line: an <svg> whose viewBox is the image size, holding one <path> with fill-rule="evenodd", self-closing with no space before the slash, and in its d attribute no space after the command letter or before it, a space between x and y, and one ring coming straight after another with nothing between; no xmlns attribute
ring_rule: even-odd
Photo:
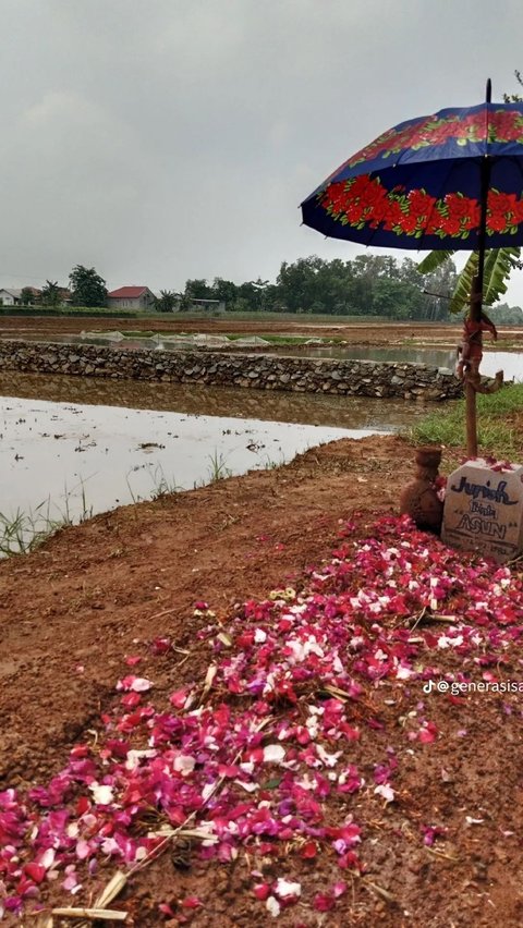
<svg viewBox="0 0 523 928"><path fill-rule="evenodd" d="M0 787L41 782L60 769L111 704L114 682L126 670L124 655L143 654L141 674L160 685L163 677L171 688L183 674L197 674L197 649L178 671L151 658L146 643L169 635L191 651L195 601L205 599L224 616L234 602L299 582L307 565L336 548L340 521L355 516L365 530L377 513L397 510L412 457L413 449L397 437L345 439L276 471L99 515L31 555L1 563ZM385 704L380 710L387 713ZM522 924L521 734L513 725L506 733L488 699L460 712L457 720L443 700L434 706L441 730L467 728L471 737L449 735L430 745L423 765L413 762L403 774L400 810L387 806L370 823L362 845L370 883L345 871L352 887L336 912L293 906L279 924ZM390 732L387 740L379 731L368 736L384 750L390 743ZM479 831L462 826L471 804L483 809ZM419 823L433 819L455 835L442 854L419 843ZM126 924L148 928L162 924L158 902L175 905L194 893L206 907L185 911L170 926L187 918L198 928L272 924L252 896L245 866L242 858L204 864L191 855L181 866L165 854L131 881L117 907L129 911ZM292 867L294 878L318 891L340 877L321 858L299 858ZM107 881L110 872L100 876ZM70 901L62 898L62 904Z"/></svg>

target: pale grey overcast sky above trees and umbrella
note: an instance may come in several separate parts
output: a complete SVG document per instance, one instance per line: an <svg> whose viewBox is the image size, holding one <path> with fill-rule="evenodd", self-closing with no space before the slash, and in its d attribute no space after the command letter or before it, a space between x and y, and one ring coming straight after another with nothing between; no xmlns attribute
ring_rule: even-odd
<svg viewBox="0 0 523 928"><path fill-rule="evenodd" d="M353 257L301 200L384 130L523 71L522 0L0 0L0 286Z"/></svg>

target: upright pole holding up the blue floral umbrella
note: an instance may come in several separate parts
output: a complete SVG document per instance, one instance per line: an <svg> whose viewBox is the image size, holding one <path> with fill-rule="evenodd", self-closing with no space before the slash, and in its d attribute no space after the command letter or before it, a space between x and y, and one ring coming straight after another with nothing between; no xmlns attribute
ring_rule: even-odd
<svg viewBox="0 0 523 928"><path fill-rule="evenodd" d="M491 100L491 83L487 81L485 95L486 102ZM486 146L488 150L488 109L486 126ZM474 278L471 293L471 321L481 325L483 303L483 274L485 268L485 242L487 234L487 198L490 185L490 158L485 155L482 162L482 192L481 192L481 216L477 233L477 277ZM479 345L482 343L482 330L478 329ZM469 457L477 457L477 419L476 419L476 383L479 381L478 371L472 370L465 380L465 416L466 416L466 453Z"/></svg>

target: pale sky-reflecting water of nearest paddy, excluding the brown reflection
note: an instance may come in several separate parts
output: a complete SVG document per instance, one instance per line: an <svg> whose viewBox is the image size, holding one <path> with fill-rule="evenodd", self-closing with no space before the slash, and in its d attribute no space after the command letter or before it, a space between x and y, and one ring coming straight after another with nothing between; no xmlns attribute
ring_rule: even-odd
<svg viewBox="0 0 523 928"><path fill-rule="evenodd" d="M77 518L369 431L4 396L0 510Z"/></svg>

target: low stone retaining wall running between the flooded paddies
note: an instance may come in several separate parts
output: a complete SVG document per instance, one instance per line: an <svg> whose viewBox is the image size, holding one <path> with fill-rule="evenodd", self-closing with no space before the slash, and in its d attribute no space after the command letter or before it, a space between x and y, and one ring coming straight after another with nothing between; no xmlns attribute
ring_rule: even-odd
<svg viewBox="0 0 523 928"><path fill-rule="evenodd" d="M462 387L453 375L423 364L208 351L130 351L105 345L2 340L0 369L405 400L449 400L462 395Z"/></svg>

